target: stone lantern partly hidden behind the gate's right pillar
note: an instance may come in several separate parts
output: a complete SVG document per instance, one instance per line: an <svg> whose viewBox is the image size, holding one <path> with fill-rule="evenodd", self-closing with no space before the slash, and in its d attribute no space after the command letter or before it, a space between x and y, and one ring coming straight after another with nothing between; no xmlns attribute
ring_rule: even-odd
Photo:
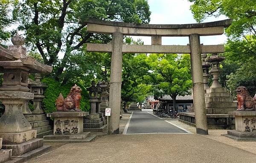
<svg viewBox="0 0 256 163"><path fill-rule="evenodd" d="M203 78L204 78L204 90L210 88L208 85L208 79L211 76L209 74L209 67L211 67L210 63L206 61L207 54L201 54L202 56L202 67L203 67Z"/></svg>

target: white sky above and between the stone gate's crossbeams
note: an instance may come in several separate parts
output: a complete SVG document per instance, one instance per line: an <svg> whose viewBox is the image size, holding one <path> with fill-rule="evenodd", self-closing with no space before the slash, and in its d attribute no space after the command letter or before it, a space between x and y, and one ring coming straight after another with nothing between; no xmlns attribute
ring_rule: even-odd
<svg viewBox="0 0 256 163"><path fill-rule="evenodd" d="M189 24L196 23L191 11L190 5L193 3L187 0L148 0L151 11L150 24ZM204 22L212 22L225 20L227 17L221 16L218 18L210 17ZM151 45L151 37L133 37L134 39L141 38L144 45ZM200 41L204 45L223 44L227 40L225 34L220 36L205 36L201 37ZM189 37L162 37L162 45L187 45Z"/></svg>

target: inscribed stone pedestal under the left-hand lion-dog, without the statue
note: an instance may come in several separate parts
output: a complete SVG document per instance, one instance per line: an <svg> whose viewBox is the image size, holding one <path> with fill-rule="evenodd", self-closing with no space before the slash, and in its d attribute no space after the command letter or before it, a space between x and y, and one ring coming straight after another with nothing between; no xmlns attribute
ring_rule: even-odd
<svg viewBox="0 0 256 163"><path fill-rule="evenodd" d="M93 141L96 136L83 132L84 117L89 112L52 112L47 117L54 118L53 135L44 136L44 142L79 143Z"/></svg>

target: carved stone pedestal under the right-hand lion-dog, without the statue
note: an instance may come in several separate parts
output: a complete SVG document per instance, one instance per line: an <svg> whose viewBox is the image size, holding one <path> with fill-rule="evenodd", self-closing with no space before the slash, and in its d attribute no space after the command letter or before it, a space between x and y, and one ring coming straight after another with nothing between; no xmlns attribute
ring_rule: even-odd
<svg viewBox="0 0 256 163"><path fill-rule="evenodd" d="M236 141L256 141L256 111L228 112L235 116L236 130L229 130L227 136Z"/></svg>

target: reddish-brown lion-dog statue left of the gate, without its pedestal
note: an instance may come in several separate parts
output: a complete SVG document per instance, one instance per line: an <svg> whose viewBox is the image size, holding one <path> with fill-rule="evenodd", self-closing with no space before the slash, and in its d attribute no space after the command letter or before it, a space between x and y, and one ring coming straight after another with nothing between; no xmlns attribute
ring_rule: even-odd
<svg viewBox="0 0 256 163"><path fill-rule="evenodd" d="M67 95L67 98L64 99L62 94L58 96L55 101L56 109L59 112L74 112L81 111L80 108L80 100L82 89L76 84L70 89L70 93Z"/></svg>

